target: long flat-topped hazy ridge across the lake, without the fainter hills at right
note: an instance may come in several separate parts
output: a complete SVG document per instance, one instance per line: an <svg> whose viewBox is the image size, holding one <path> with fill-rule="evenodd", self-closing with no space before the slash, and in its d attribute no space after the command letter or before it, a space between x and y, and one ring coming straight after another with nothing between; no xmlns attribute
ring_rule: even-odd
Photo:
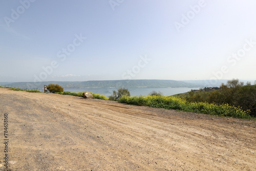
<svg viewBox="0 0 256 171"><path fill-rule="evenodd" d="M63 88L108 88L108 87L148 87L148 88L159 88L159 87L172 87L172 88L195 88L201 87L202 85L196 83L190 83L185 81L175 80L104 80L104 81L45 81L45 82L13 82L3 86L15 87L21 89L34 89L44 88L44 85L48 84L59 84Z"/></svg>

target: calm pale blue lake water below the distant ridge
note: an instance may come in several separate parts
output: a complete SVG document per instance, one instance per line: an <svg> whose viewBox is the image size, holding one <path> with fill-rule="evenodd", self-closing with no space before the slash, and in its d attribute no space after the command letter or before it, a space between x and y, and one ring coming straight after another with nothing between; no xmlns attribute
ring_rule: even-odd
<svg viewBox="0 0 256 171"><path fill-rule="evenodd" d="M195 88L193 88L196 90ZM109 97L113 91L117 91L118 88L79 88L79 89L73 89L73 88L65 88L65 92L92 92L95 94L102 94L106 97ZM191 88L128 88L128 90L131 93L131 96L145 96L150 94L152 91L156 92L162 92L164 96L170 96L174 94L179 93L186 93L191 90Z"/></svg>

